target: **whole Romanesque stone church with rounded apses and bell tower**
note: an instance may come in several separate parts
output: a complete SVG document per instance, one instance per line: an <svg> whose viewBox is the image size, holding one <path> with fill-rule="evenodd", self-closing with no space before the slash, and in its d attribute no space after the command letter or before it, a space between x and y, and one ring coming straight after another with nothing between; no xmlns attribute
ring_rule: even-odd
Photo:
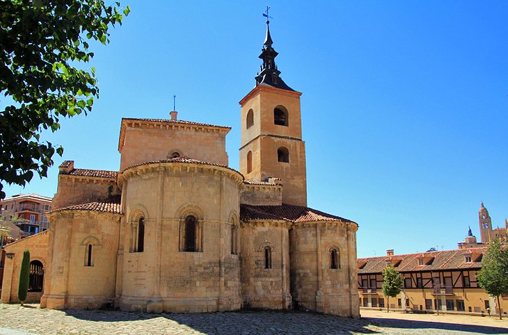
<svg viewBox="0 0 508 335"><path fill-rule="evenodd" d="M120 169L62 163L49 231L5 247L2 302L17 301L28 249L29 297L49 309L359 316L358 224L307 207L301 93L280 77L268 24L239 103L240 171L228 126L122 119Z"/></svg>

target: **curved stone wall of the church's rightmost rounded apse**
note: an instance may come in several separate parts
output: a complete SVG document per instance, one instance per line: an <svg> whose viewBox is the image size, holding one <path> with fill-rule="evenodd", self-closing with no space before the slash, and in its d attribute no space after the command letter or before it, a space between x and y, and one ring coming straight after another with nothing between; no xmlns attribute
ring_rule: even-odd
<svg viewBox="0 0 508 335"><path fill-rule="evenodd" d="M356 230L347 222L302 222L291 230L291 293L302 309L358 317ZM331 250L338 268L331 268Z"/></svg>

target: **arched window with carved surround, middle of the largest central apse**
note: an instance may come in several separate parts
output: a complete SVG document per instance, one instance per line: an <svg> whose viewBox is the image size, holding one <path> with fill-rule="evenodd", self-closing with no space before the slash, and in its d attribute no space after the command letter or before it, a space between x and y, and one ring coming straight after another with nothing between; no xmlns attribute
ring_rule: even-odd
<svg viewBox="0 0 508 335"><path fill-rule="evenodd" d="M181 252L203 252L203 209L189 203L177 209L179 224L179 250Z"/></svg>

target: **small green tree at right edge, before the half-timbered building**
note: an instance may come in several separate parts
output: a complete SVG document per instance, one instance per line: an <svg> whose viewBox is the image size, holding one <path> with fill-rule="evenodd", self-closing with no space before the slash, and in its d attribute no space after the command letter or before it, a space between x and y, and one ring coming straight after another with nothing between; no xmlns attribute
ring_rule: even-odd
<svg viewBox="0 0 508 335"><path fill-rule="evenodd" d="M508 248L503 247L498 239L489 244L482 260L482 270L478 272L476 278L486 293L496 297L501 320L499 296L508 294Z"/></svg>

